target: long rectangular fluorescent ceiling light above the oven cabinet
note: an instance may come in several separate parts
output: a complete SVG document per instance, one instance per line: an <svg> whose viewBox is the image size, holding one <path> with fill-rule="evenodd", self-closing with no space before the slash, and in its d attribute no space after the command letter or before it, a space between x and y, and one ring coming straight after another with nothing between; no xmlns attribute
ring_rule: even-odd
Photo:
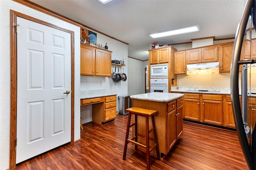
<svg viewBox="0 0 256 170"><path fill-rule="evenodd" d="M160 38L160 37L167 37L167 36L185 34L185 33L196 32L196 31L200 31L200 26L198 24L193 25L193 26L186 26L186 27L182 27L182 28L176 28L176 29L173 29L173 30L155 32L155 33L149 34L149 36L151 36L152 38Z"/></svg>

